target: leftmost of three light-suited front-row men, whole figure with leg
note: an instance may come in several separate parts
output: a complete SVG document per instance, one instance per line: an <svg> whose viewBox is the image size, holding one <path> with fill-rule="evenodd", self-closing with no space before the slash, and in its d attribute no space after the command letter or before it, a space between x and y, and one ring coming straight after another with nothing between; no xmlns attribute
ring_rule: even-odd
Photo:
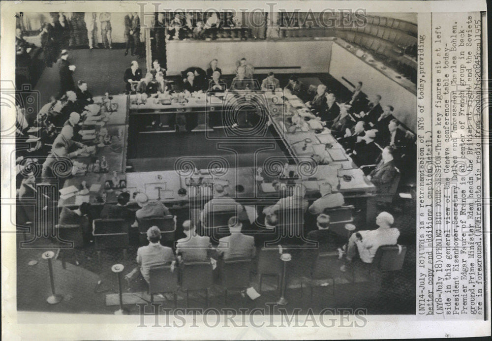
<svg viewBox="0 0 492 341"><path fill-rule="evenodd" d="M157 226L152 226L147 230L147 239L149 240L149 245L140 247L137 250L138 266L125 276L130 287L133 287L135 282L142 283L142 279L149 283L150 270L152 268L171 264L171 271L174 271L176 259L173 249L159 243L160 230Z"/></svg>

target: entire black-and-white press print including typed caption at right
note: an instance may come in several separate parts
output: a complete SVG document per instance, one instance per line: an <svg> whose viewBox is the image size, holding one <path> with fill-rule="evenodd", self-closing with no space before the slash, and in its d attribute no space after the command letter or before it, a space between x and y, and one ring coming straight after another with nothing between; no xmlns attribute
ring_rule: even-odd
<svg viewBox="0 0 492 341"><path fill-rule="evenodd" d="M454 38L431 27L431 13L389 7L205 1L105 12L103 2L24 7L8 27L15 80L2 76L2 91L11 88L15 125L8 141L2 132L12 147L2 166L12 163L15 188L2 197L12 197L17 313L128 315L142 335L156 328L137 326L179 329L196 314L208 327L273 316L277 327L324 328L290 336L319 339L337 338L328 328L343 327L345 315L363 332L371 318L423 319L429 304L446 319L490 311L479 295L490 285L488 257L465 265L452 249L481 243L463 247L470 256L489 245L490 232L476 234L482 216L463 212L481 214L464 200L488 183L474 193L453 187L482 181L472 164L480 160L463 152L456 134L471 130L460 118L449 133L436 130L461 115L453 86L479 72L463 66L473 62L460 54L471 50L460 25L480 15L458 13L461 23L448 23ZM431 49L441 36L442 56ZM431 54L442 64L431 68ZM460 144L462 157L451 156ZM468 271L478 275L463 289L452 277ZM458 290L481 298L458 303ZM179 339L206 338L196 329ZM278 338L245 330L229 337Z"/></svg>

